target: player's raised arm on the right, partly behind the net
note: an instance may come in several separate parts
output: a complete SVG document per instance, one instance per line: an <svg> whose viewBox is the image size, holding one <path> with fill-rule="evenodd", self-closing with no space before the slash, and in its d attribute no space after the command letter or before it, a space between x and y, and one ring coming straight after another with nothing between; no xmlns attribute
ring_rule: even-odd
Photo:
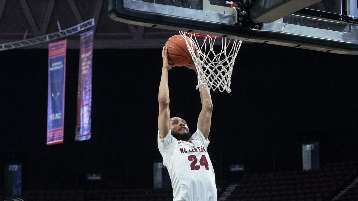
<svg viewBox="0 0 358 201"><path fill-rule="evenodd" d="M198 76L198 72L197 69L195 68L194 62L192 62L187 67L193 69ZM198 129L203 133L205 139L207 139L211 126L211 114L213 112L213 102L211 100L209 88L206 85L205 85L205 89L200 90L200 100L202 103L202 111L200 112L198 118Z"/></svg>

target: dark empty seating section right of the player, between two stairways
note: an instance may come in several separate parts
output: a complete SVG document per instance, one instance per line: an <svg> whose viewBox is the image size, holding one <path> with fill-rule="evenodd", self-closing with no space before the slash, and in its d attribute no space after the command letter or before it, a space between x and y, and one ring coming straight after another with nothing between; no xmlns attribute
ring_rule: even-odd
<svg viewBox="0 0 358 201"><path fill-rule="evenodd" d="M318 170L246 173L228 201L329 201L357 177L358 161Z"/></svg>

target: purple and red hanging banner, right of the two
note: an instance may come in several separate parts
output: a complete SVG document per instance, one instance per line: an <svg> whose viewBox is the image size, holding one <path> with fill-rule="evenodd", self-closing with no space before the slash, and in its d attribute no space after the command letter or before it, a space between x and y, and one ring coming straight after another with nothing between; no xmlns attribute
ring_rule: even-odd
<svg viewBox="0 0 358 201"><path fill-rule="evenodd" d="M81 34L75 141L91 139L93 30Z"/></svg>

